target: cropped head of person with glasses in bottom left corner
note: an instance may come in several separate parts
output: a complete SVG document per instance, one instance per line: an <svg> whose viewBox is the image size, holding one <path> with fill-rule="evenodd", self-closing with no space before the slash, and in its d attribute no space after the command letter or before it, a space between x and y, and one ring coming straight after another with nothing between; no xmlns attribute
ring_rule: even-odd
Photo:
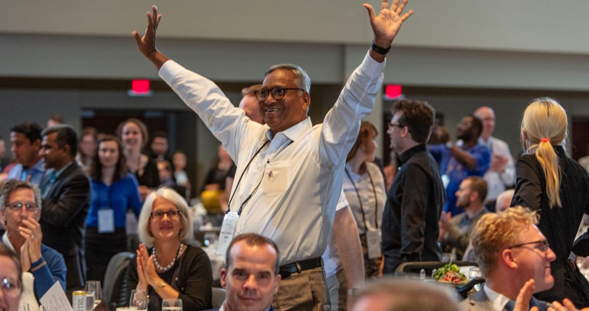
<svg viewBox="0 0 589 311"><path fill-rule="evenodd" d="M12 250L0 243L0 309L17 311L21 293L21 262Z"/></svg>

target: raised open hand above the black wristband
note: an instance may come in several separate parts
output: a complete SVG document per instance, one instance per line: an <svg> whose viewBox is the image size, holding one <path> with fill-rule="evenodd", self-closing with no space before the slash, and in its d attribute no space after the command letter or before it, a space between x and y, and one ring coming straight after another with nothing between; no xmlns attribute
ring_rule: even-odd
<svg viewBox="0 0 589 311"><path fill-rule="evenodd" d="M378 15L376 15L372 5L363 4L368 11L370 26L372 26L372 32L374 32L374 43L376 45L382 48L391 46L391 42L395 39L403 22L413 14L413 10L402 14L407 2L408 0L403 0L399 5L399 0L394 0L389 9L389 1L383 0Z"/></svg>

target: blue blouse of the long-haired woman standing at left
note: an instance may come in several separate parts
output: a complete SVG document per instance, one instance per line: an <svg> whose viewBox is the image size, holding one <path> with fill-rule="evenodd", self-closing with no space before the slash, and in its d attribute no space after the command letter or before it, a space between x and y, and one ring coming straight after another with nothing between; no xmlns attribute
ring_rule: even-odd
<svg viewBox="0 0 589 311"><path fill-rule="evenodd" d="M102 180L91 178L92 200L90 210L86 218L86 226L98 227L98 210L112 209L114 213L115 228L125 228L127 208L133 209L137 218L141 212L141 198L139 196L139 183L135 176L127 173L123 179L119 179L110 186Z"/></svg>

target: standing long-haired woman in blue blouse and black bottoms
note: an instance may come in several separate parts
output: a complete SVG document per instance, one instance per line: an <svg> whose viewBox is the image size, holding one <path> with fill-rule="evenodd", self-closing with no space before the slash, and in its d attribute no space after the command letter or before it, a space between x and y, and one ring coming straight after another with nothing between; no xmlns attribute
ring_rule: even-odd
<svg viewBox="0 0 589 311"><path fill-rule="evenodd" d="M86 261L88 279L102 281L111 257L127 250L127 210L133 210L138 218L141 198L137 179L127 171L123 147L115 136L102 136L92 158L89 172L92 200L86 218Z"/></svg>

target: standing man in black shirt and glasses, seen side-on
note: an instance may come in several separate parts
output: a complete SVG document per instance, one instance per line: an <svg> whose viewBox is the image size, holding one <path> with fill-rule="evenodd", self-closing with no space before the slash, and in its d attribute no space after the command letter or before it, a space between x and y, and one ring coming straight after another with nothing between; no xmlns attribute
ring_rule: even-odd
<svg viewBox="0 0 589 311"><path fill-rule="evenodd" d="M434 108L404 99L393 111L388 133L399 172L382 217L383 273L394 273L403 262L441 260L438 220L446 200L438 164L425 147Z"/></svg>

